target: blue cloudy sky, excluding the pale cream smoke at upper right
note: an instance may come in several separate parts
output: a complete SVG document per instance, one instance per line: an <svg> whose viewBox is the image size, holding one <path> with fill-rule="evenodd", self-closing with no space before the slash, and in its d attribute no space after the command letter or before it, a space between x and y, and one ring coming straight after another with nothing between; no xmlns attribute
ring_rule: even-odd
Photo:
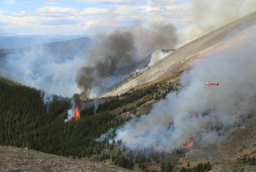
<svg viewBox="0 0 256 172"><path fill-rule="evenodd" d="M3 0L0 29L17 34L95 34L116 27L194 21L190 0Z"/></svg>

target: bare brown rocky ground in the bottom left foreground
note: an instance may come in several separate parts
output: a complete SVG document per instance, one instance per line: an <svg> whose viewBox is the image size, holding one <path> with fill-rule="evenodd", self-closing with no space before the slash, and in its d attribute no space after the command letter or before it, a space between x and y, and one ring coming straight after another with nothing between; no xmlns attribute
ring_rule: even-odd
<svg viewBox="0 0 256 172"><path fill-rule="evenodd" d="M12 146L0 146L0 171L130 171Z"/></svg>

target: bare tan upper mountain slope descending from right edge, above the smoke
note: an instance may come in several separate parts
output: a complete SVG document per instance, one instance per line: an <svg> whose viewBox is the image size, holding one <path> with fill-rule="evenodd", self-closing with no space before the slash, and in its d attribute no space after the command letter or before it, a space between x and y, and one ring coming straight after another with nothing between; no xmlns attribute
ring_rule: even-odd
<svg viewBox="0 0 256 172"><path fill-rule="evenodd" d="M123 84L122 87L116 91L103 96L121 94L128 91L131 87L158 80L169 75L175 75L175 73L181 73L184 70L189 70L191 68L190 62L192 60L202 58L211 52L220 51L221 49L230 47L232 44L227 44L227 40L232 37L238 37L239 33L242 34L242 36L246 36L240 36L243 40L246 40L247 38L253 39L255 37L254 33L252 33L252 35L248 35L243 31L245 29L248 30L249 28L255 27L255 23L256 12L253 12L194 41L191 41L161 59L159 62L141 70L136 77L130 79L129 82Z"/></svg>

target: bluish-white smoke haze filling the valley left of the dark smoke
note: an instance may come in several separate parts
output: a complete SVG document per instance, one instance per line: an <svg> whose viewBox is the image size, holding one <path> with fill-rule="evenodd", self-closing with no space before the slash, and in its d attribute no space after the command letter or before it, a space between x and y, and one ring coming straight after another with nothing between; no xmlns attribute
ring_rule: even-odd
<svg viewBox="0 0 256 172"><path fill-rule="evenodd" d="M86 61L81 54L89 44L89 38L80 38L13 49L0 56L0 68L15 76L9 78L24 85L71 97L75 91L79 91L74 76Z"/></svg>

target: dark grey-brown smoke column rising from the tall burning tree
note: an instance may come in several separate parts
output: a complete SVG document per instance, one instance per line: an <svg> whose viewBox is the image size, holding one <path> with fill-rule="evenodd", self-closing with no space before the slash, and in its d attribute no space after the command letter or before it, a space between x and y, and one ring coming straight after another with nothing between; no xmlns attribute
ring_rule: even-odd
<svg viewBox="0 0 256 172"><path fill-rule="evenodd" d="M90 53L91 66L78 69L75 80L82 90L73 95L73 107L68 111L68 119L74 117L76 106L81 106L81 100L89 98L91 89L102 85L102 81L115 74L117 68L130 66L135 62L136 49L133 35L130 32L115 31L95 43ZM70 113L69 113L70 112Z"/></svg>

